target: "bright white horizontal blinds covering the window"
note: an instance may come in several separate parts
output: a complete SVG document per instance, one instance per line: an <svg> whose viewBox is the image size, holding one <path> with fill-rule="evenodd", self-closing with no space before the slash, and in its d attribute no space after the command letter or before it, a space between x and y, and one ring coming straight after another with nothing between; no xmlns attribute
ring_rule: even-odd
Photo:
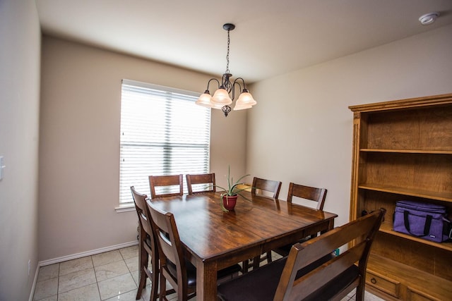
<svg viewBox="0 0 452 301"><path fill-rule="evenodd" d="M198 94L133 80L121 90L120 204L133 202L131 186L150 195L150 175L208 173L210 109Z"/></svg>

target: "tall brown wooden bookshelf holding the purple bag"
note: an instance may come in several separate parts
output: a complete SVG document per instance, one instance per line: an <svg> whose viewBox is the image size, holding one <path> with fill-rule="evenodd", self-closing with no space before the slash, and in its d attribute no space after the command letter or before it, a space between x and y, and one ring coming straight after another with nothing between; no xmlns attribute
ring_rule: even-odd
<svg viewBox="0 0 452 301"><path fill-rule="evenodd" d="M385 300L452 300L452 242L393 231L399 200L444 204L452 214L452 94L350 110L350 220L387 210L371 250L367 289Z"/></svg>

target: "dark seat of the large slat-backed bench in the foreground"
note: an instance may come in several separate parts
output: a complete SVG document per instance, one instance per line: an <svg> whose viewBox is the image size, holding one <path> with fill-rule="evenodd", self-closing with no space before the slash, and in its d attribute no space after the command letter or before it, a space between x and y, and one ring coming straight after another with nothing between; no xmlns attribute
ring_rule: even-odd
<svg viewBox="0 0 452 301"><path fill-rule="evenodd" d="M333 254L328 254L316 262L309 264L309 266L304 269L299 270L297 278L309 273L309 271L312 271L324 262L328 262L333 256ZM283 257L266 264L259 269L250 271L249 273L218 285L218 297L222 301L272 301L276 288L278 288L278 281L275 281L275 275L281 275L283 273L286 261L287 257Z"/></svg>

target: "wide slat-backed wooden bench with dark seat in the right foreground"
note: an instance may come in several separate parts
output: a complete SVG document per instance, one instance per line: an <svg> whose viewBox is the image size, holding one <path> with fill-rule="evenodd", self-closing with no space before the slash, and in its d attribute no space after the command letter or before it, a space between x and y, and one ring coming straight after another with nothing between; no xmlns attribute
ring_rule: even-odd
<svg viewBox="0 0 452 301"><path fill-rule="evenodd" d="M366 267L386 209L292 246L283 257L218 285L222 301L342 300L356 288L364 300ZM335 256L333 250L349 246Z"/></svg>

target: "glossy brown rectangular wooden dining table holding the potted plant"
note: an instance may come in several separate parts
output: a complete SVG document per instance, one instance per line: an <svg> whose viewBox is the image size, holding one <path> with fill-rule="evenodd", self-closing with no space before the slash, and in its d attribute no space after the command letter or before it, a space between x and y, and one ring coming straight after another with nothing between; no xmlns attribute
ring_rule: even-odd
<svg viewBox="0 0 452 301"><path fill-rule="evenodd" d="M196 266L196 300L217 300L217 271L314 233L333 229L337 214L282 200L239 196L222 211L221 192L148 200L174 214L186 257Z"/></svg>

